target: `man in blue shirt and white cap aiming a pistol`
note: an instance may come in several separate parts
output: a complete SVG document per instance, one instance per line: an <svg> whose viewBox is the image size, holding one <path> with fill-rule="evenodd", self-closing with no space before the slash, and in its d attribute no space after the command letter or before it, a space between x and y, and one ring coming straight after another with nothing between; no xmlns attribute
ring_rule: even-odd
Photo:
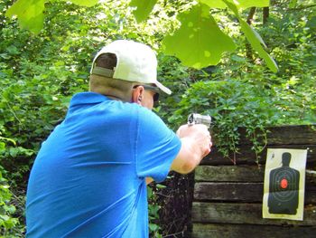
<svg viewBox="0 0 316 238"><path fill-rule="evenodd" d="M27 237L148 237L146 183L191 172L209 154L203 125L168 129L153 109L156 57L115 41L96 55L89 92L76 94L30 175Z"/></svg>

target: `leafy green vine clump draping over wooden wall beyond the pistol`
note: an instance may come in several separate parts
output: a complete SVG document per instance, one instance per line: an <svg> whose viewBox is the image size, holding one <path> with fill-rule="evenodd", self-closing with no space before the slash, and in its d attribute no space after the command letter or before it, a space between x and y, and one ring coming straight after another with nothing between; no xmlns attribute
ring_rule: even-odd
<svg viewBox="0 0 316 238"><path fill-rule="evenodd" d="M238 129L246 128L246 137L250 139L255 133L262 138L265 126L275 123L278 114L276 109L270 107L272 104L274 95L260 84L253 85L236 79L198 81L183 95L180 109L175 111L171 121L179 124L191 112L211 115L214 123L213 143L228 157L229 151L237 152ZM259 152L262 148L258 146L254 149Z"/></svg>

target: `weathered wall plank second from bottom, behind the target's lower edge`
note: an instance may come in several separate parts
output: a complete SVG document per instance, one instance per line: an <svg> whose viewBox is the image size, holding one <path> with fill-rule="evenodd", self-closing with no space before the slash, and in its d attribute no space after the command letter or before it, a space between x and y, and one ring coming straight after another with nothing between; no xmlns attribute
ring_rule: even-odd
<svg viewBox="0 0 316 238"><path fill-rule="evenodd" d="M209 224L315 225L316 205L305 205L304 220L262 218L262 204L193 203L192 222Z"/></svg>

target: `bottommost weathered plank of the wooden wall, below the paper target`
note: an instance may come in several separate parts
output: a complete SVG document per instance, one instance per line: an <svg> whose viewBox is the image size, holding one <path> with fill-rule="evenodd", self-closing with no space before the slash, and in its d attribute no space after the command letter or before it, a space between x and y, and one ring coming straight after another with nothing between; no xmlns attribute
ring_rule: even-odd
<svg viewBox="0 0 316 238"><path fill-rule="evenodd" d="M192 238L311 238L315 233L315 226L193 224Z"/></svg>

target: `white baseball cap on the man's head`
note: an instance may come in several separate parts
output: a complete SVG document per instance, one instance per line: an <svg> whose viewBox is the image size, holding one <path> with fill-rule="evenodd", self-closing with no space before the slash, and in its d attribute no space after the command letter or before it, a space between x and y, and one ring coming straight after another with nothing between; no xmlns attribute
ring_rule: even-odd
<svg viewBox="0 0 316 238"><path fill-rule="evenodd" d="M96 60L103 53L114 53L117 63L114 70L98 67ZM157 81L157 59L153 50L144 43L117 40L103 47L95 56L90 74L98 74L122 81L154 84L167 94L172 91Z"/></svg>

